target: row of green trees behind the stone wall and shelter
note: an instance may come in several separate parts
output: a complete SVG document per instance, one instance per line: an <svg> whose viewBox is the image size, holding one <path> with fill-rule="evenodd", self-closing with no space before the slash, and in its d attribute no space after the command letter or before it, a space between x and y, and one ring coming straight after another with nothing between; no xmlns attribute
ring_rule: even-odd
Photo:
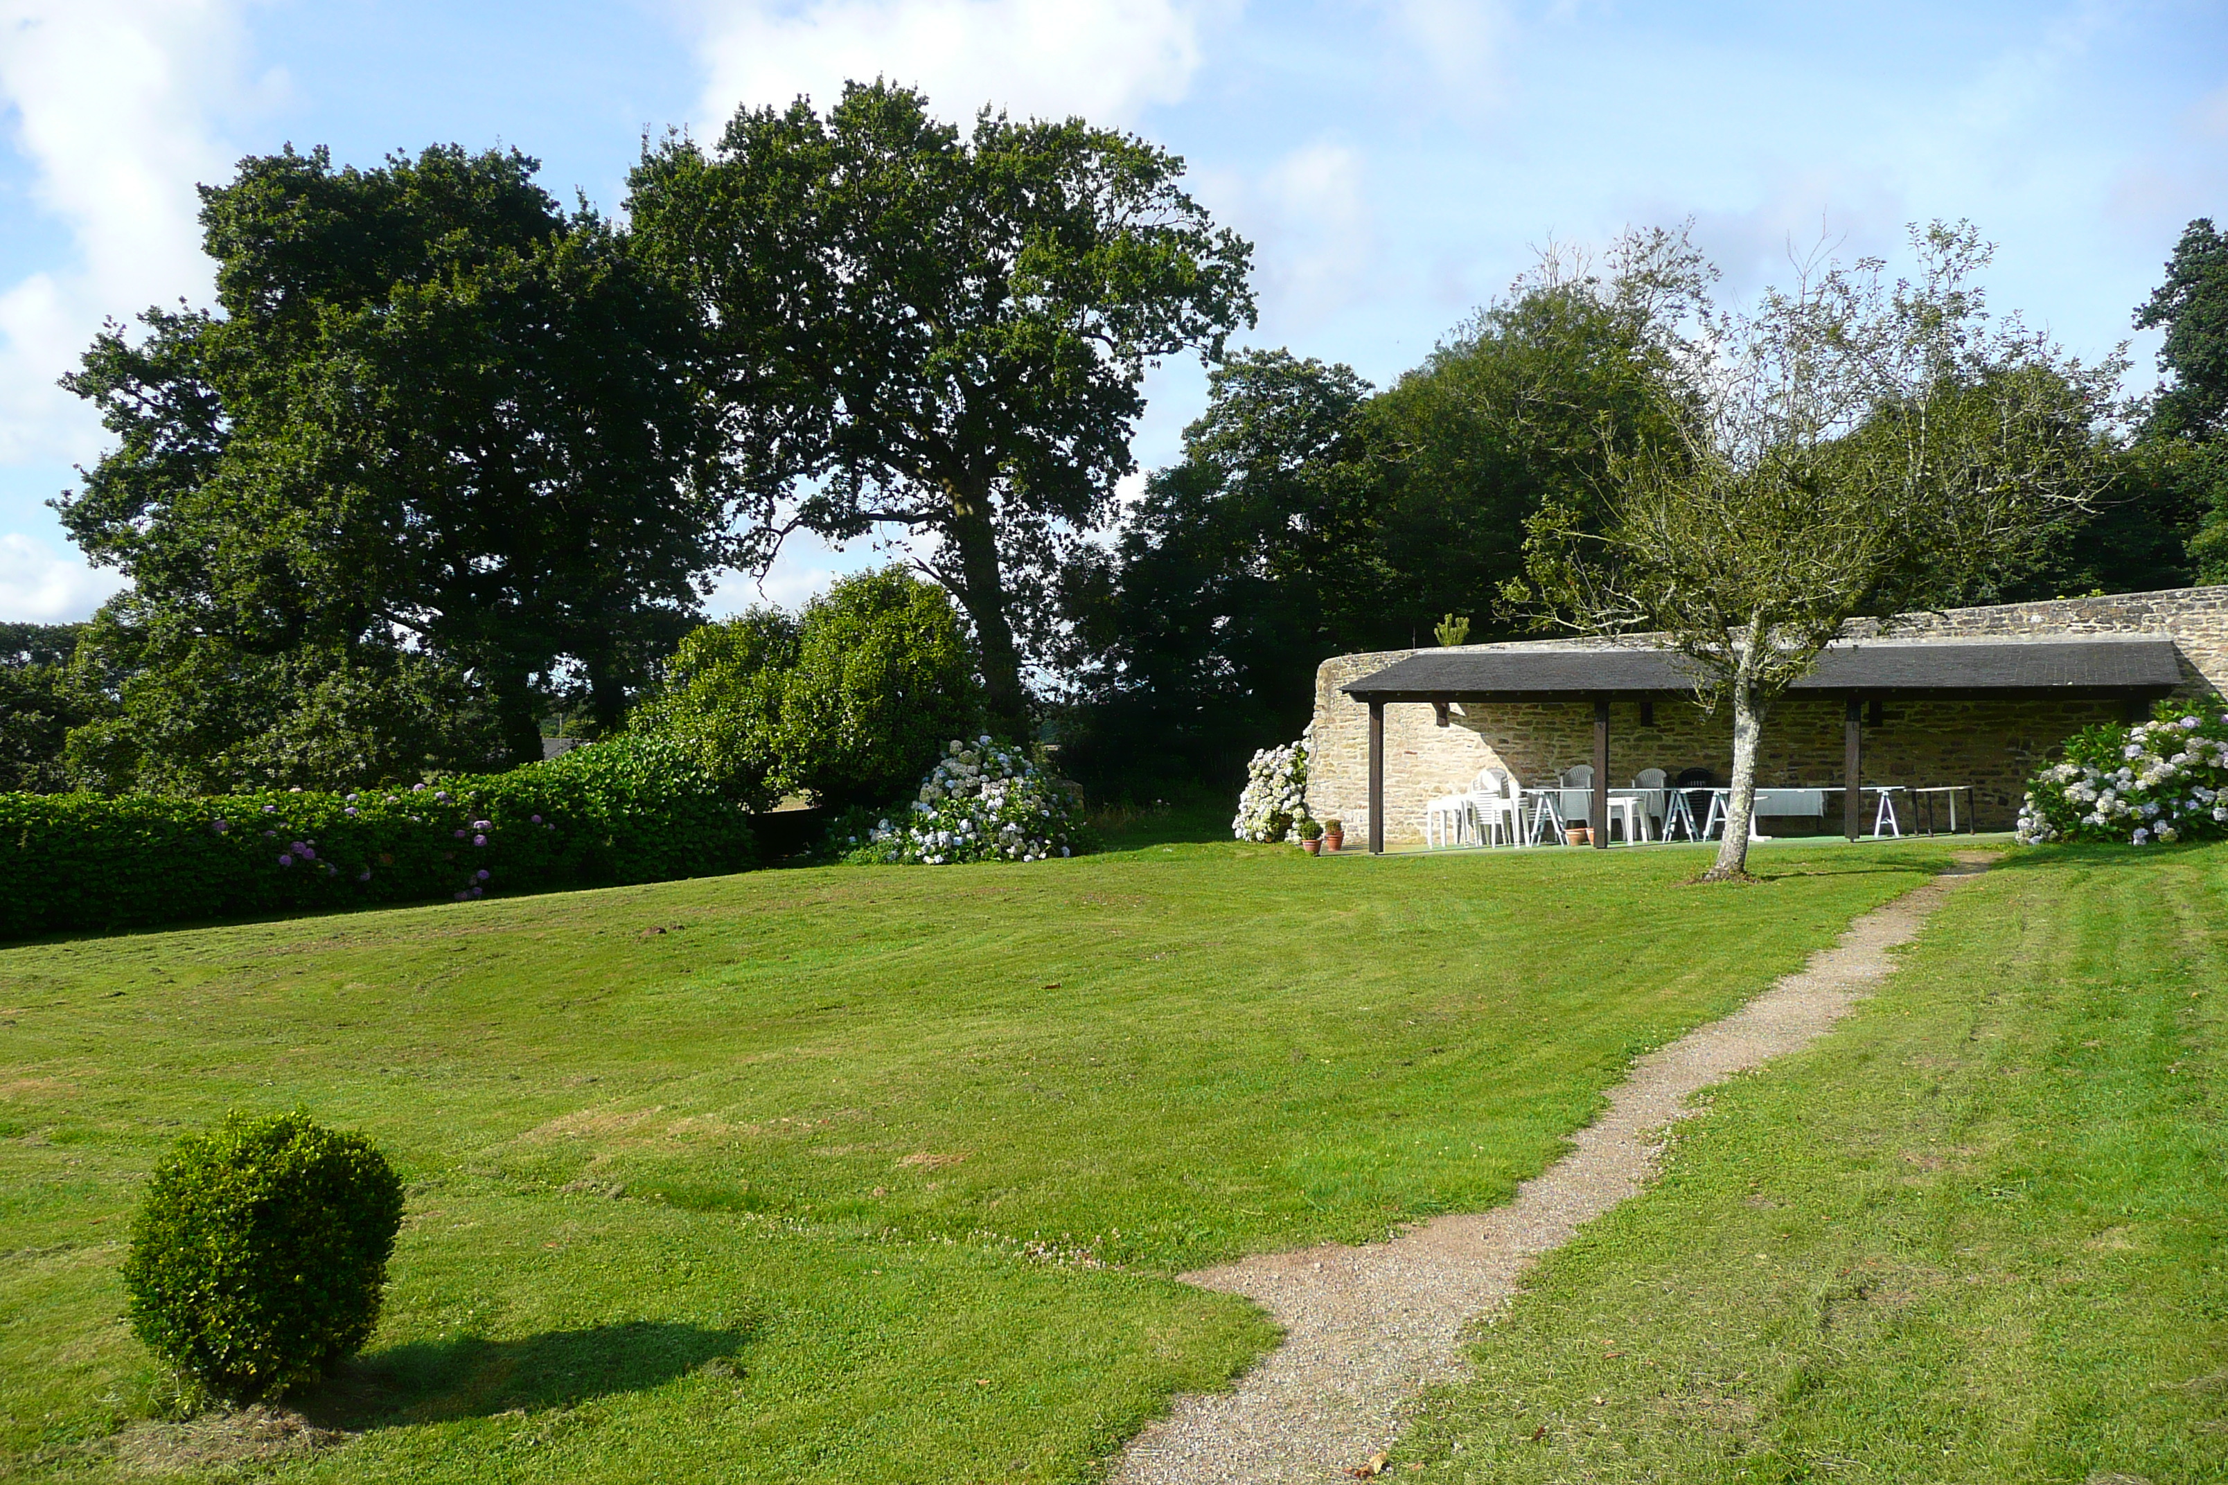
<svg viewBox="0 0 2228 1485"><path fill-rule="evenodd" d="M2043 501L2039 519L1999 532L1987 561L1958 557L1956 581L1929 601L2228 581L2228 252L2212 225L2190 225L2168 285L2137 318L2168 327L2168 343L2163 390L2132 405L2114 401L2117 361L2081 367L2016 325L1990 332L1976 281L1985 252L1970 229L1923 234L1916 247L1950 278L1914 285L1912 309L1932 303L1938 330L1970 341L1963 354L1936 347L1947 356L1938 390L1963 387L1967 412L2014 405L1990 401L1987 387L2032 394L2085 439L2059 450L2079 452L2079 496ZM1711 267L1680 234L1640 232L1597 265L1544 258L1384 392L1286 352L1225 361L1185 459L1152 474L1118 539L1065 574L1072 630L1056 672L1074 701L1074 764L1139 795L1237 779L1252 748L1299 732L1315 666L1330 655L1430 643L1442 614L1466 617L1473 641L1573 619L1577 610L1542 603L1533 568L1553 550L1540 541L1602 534L1644 463L1729 416L1713 394L1729 392L1733 363L1753 390L1760 367L1727 336L1778 321L1785 343L1805 298L1811 325L1800 334L1823 336L1820 294L1843 316L1865 307L1876 338L1896 334L1878 265L1816 265L1745 327L1709 307L1711 287ZM1709 347L1724 354L1704 356ZM1838 370L1856 407L1909 396L1856 374L1849 356ZM1847 432L1836 414L1802 439L1838 445ZM1834 514L1889 530L1865 508ZM1696 550L1722 550L1720 539L1696 534ZM1577 594L1562 586L1555 597ZM1858 610L1905 601L1921 599L1880 586Z"/></svg>

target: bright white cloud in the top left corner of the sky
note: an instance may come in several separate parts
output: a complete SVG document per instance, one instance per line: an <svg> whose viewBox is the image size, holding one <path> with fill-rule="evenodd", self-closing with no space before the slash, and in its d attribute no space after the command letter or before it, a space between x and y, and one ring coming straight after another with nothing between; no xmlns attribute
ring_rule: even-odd
<svg viewBox="0 0 2228 1485"><path fill-rule="evenodd" d="M227 174L212 114L241 98L238 0L0 0L0 105L33 205L76 260L0 289L0 463L87 459L53 385L107 316L203 298L194 185Z"/></svg>

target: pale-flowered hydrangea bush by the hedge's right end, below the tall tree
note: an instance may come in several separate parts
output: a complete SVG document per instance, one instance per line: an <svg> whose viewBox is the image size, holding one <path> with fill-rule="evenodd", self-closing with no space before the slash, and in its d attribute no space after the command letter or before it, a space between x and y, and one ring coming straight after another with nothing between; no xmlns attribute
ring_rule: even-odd
<svg viewBox="0 0 2228 1485"><path fill-rule="evenodd" d="M842 839L858 864L1045 862L1094 844L1083 804L1020 748L954 739L918 795Z"/></svg>

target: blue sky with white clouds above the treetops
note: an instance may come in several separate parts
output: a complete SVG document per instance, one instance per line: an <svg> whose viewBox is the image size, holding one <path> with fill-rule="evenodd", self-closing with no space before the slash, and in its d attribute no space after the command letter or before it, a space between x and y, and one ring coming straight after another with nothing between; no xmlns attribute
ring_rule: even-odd
<svg viewBox="0 0 2228 1485"><path fill-rule="evenodd" d="M1733 294L1831 236L1972 218L1994 303L2097 356L2228 216L2228 7L1600 0L0 0L0 619L116 588L45 501L100 452L53 387L105 316L203 303L194 183L243 154L517 145L617 209L644 129L889 73L951 116L1083 114L1183 154L1257 243L1261 345L1384 383L1548 240L1696 220ZM2137 338L2148 374L2154 338ZM1152 381L1143 465L1201 405ZM795 601L871 552L793 548ZM758 597L742 579L713 608Z"/></svg>

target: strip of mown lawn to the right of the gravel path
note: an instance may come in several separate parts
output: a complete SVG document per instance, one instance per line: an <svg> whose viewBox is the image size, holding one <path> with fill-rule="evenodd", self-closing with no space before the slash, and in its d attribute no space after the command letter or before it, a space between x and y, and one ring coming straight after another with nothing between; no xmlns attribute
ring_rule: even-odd
<svg viewBox="0 0 2228 1485"><path fill-rule="evenodd" d="M1466 1481L2228 1478L2228 848L2034 850L1551 1256Z"/></svg>

